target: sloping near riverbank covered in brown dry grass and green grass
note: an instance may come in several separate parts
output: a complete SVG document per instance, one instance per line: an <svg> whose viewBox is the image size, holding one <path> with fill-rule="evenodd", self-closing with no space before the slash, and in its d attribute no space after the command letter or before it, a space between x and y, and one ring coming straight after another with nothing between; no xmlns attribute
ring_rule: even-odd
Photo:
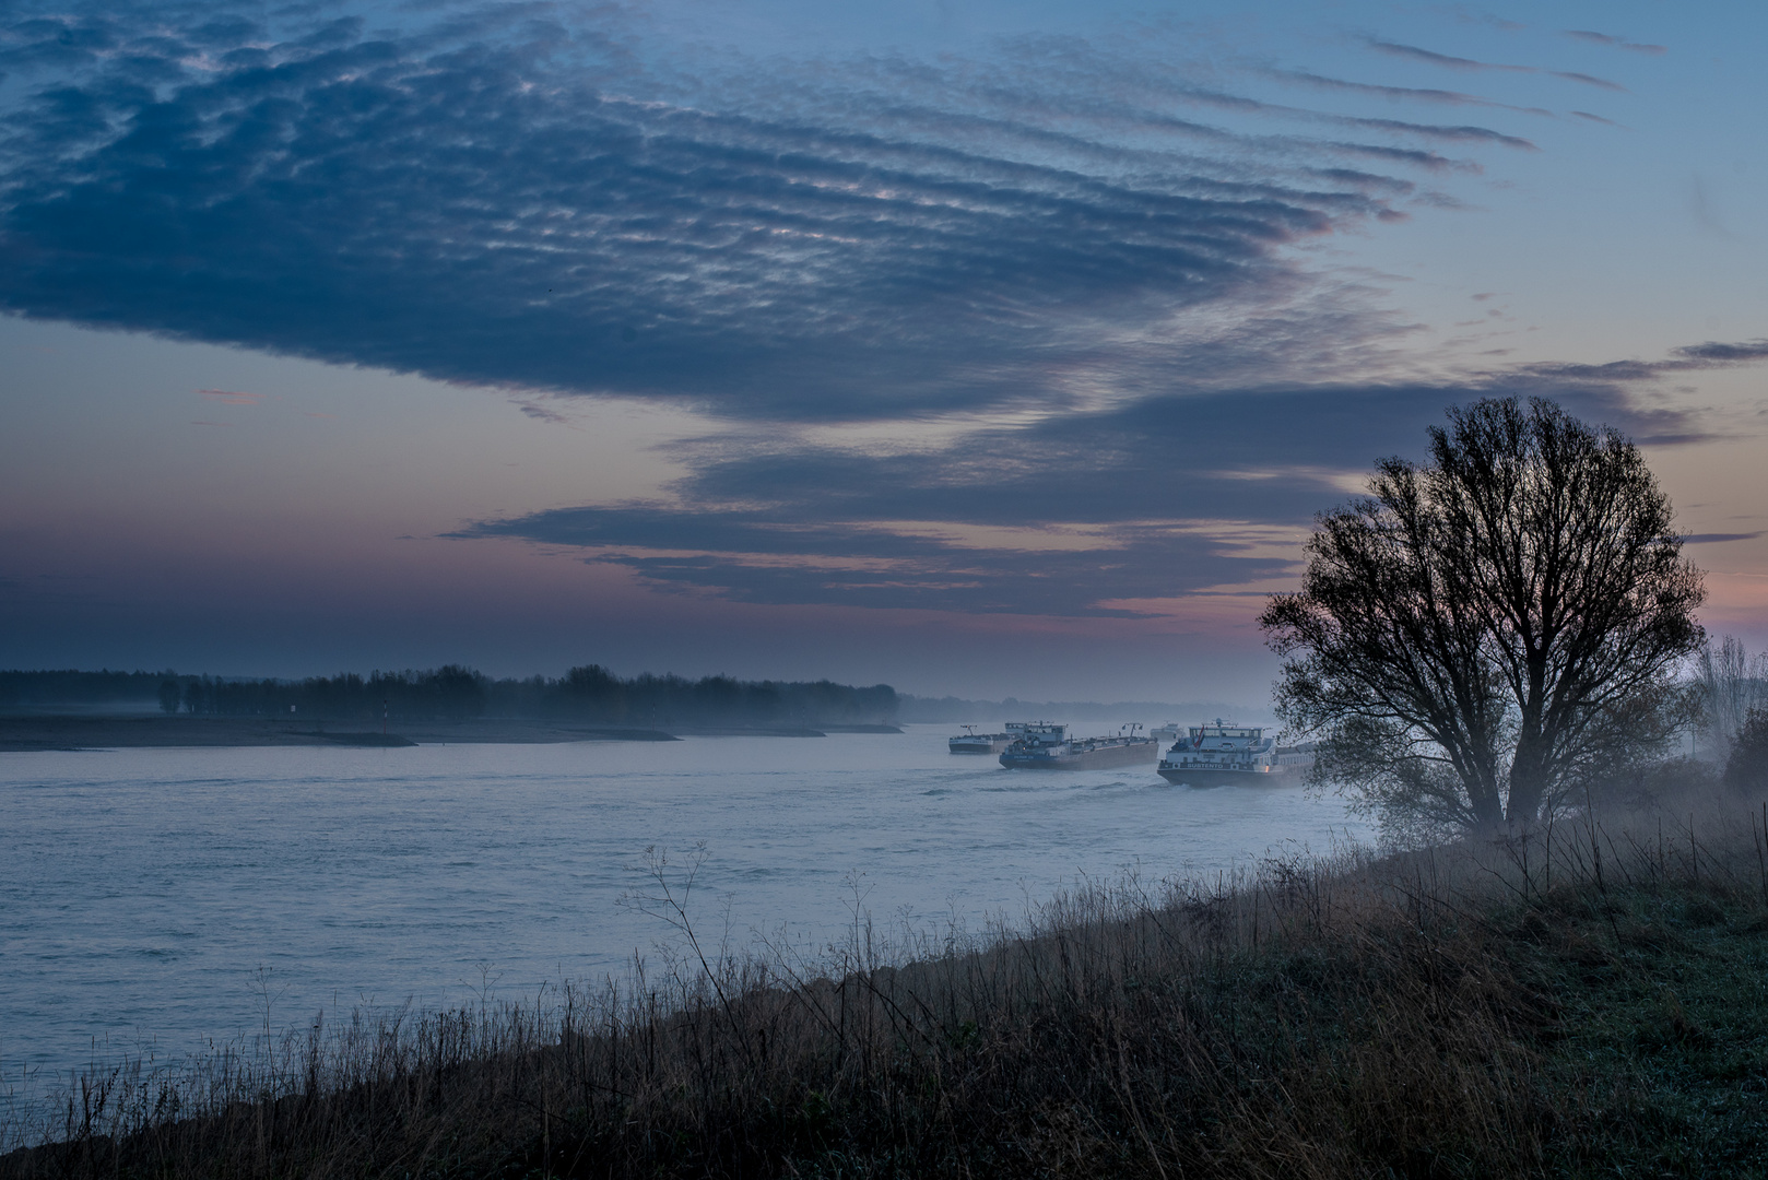
<svg viewBox="0 0 1768 1180"><path fill-rule="evenodd" d="M87 1077L0 1176L1759 1175L1764 821L1123 881L941 945L861 916L815 962L688 938L619 987Z"/></svg>

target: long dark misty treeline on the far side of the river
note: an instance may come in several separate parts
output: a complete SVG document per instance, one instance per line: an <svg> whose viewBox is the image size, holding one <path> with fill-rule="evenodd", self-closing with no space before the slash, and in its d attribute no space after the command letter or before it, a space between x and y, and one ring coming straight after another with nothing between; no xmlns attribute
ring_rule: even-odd
<svg viewBox="0 0 1768 1180"><path fill-rule="evenodd" d="M889 685L633 676L576 667L552 679L492 679L451 663L423 672L233 679L177 672L0 672L0 706L157 701L166 713L315 720L523 716L608 725L865 725L896 718Z"/></svg>

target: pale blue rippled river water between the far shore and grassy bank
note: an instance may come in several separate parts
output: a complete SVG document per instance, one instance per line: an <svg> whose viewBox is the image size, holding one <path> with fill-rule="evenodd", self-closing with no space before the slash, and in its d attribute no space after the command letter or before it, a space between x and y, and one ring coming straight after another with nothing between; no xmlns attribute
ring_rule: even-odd
<svg viewBox="0 0 1768 1180"><path fill-rule="evenodd" d="M619 904L645 890L647 847L682 865L704 846L702 931L815 948L856 895L884 925L974 931L1082 876L1215 874L1367 835L1294 787L1004 771L949 755L948 725L905 729L0 754L0 1095L267 1017L621 975L675 938Z"/></svg>

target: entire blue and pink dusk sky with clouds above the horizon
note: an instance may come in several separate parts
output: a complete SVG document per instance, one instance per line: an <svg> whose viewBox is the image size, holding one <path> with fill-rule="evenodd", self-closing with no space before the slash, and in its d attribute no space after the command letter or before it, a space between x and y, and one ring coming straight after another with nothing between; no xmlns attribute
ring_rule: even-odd
<svg viewBox="0 0 1768 1180"><path fill-rule="evenodd" d="M0 0L0 665L1268 699L1480 396L1768 640L1768 9Z"/></svg>

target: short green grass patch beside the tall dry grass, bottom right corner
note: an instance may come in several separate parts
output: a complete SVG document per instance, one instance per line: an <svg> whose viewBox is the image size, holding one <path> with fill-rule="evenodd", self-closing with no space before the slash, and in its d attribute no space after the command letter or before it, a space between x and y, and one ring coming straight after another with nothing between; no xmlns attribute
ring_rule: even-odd
<svg viewBox="0 0 1768 1180"><path fill-rule="evenodd" d="M1768 916L1729 881L1554 893L1520 915L1519 978L1554 998L1542 1037L1577 1100L1589 1175L1768 1173Z"/></svg>

